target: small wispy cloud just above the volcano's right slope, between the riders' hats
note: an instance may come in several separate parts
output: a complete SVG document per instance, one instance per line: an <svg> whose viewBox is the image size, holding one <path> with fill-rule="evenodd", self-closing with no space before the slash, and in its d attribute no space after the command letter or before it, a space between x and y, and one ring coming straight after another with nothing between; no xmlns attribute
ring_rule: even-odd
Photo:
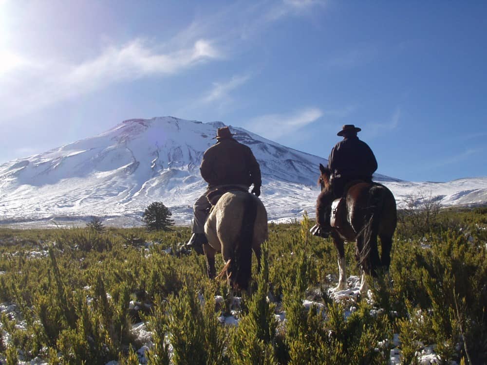
<svg viewBox="0 0 487 365"><path fill-rule="evenodd" d="M267 114L252 119L245 128L269 139L279 139L317 121L322 115L318 108L307 108L291 115Z"/></svg>

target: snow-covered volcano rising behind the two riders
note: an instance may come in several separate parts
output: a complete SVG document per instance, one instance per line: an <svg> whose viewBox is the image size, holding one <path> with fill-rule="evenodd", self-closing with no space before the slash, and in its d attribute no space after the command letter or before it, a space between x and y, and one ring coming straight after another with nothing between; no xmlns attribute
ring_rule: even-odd
<svg viewBox="0 0 487 365"><path fill-rule="evenodd" d="M206 187L199 173L203 153L223 126L174 117L131 119L93 138L2 164L0 223L100 216L113 224L137 224L152 201L164 202L176 222L189 222L191 206ZM262 201L269 218L314 212L318 164L326 160L230 128L260 163ZM414 189L414 183L383 175L375 179L392 184L401 194L403 188ZM475 192L476 201L487 201L486 180L478 183L484 189ZM469 194L462 196L463 202L471 202Z"/></svg>

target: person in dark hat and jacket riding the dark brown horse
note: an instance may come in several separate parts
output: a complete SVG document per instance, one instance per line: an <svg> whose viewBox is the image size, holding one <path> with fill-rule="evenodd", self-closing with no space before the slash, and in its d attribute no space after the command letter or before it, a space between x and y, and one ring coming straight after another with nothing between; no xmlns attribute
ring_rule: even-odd
<svg viewBox="0 0 487 365"><path fill-rule="evenodd" d="M337 135L343 140L333 147L328 157L328 168L331 173L330 189L325 189L318 196L317 222L321 236L328 237L332 202L343 196L347 185L353 181L372 183L372 174L377 169L377 161L370 147L357 137L361 129L353 124L342 127Z"/></svg>

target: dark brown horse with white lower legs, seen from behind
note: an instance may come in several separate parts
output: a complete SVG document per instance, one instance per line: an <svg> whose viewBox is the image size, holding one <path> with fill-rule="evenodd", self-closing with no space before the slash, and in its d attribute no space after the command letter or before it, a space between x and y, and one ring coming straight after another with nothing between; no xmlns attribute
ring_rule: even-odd
<svg viewBox="0 0 487 365"><path fill-rule="evenodd" d="M322 193L330 188L330 170L319 164ZM317 202L319 207L320 200ZM317 209L323 211L324 209ZM338 250L339 281L335 290L347 288L344 241L356 242L356 260L362 269L360 292L367 289L365 274L376 276L387 272L391 263L393 234L397 223L396 203L392 192L379 183L351 183L342 204L335 209L331 236ZM317 217L318 221L318 217ZM319 235L319 226L311 229ZM381 255L377 244L380 238Z"/></svg>

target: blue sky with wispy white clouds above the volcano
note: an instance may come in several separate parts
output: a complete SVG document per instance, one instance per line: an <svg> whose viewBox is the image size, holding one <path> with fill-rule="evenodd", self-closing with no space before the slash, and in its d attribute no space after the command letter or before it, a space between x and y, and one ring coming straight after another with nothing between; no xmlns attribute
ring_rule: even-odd
<svg viewBox="0 0 487 365"><path fill-rule="evenodd" d="M0 162L122 120L223 121L377 172L487 176L485 1L0 0Z"/></svg>

